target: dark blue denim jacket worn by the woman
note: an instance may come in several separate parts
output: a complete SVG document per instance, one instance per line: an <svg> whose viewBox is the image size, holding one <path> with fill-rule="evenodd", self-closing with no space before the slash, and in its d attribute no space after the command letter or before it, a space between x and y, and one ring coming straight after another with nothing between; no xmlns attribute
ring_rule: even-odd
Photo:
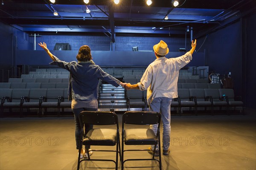
<svg viewBox="0 0 256 170"><path fill-rule="evenodd" d="M55 57L55 56L54 56ZM116 87L120 81L107 74L99 65L90 60L87 62L65 62L55 57L56 61L50 62L50 65L57 65L70 72L70 81L68 87L68 100L90 102L98 99L99 79L108 82Z"/></svg>

